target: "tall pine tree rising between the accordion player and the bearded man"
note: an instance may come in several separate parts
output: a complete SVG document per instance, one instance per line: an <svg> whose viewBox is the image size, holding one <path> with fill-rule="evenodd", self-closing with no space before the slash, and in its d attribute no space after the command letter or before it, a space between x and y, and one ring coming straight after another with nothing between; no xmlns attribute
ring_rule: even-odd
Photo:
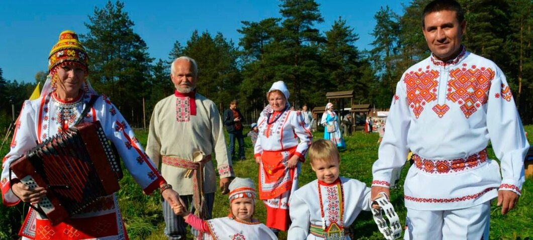
<svg viewBox="0 0 533 240"><path fill-rule="evenodd" d="M124 3L108 1L102 9L95 7L85 26L89 31L81 39L90 61L88 79L96 90L110 96L128 122L141 123L153 59L133 31Z"/></svg>

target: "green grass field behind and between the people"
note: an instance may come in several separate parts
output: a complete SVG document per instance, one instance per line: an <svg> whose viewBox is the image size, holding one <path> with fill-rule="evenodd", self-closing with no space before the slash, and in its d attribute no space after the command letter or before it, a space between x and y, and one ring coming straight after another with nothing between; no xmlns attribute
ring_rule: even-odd
<svg viewBox="0 0 533 240"><path fill-rule="evenodd" d="M533 133L533 126L526 126L526 131ZM147 132L136 131L141 143L146 145ZM322 137L322 133L314 133L314 139ZM228 138L227 138L228 139ZM348 149L341 152L341 176L356 178L368 186L372 181L372 164L377 158L378 135L354 133L345 139ZM533 143L533 134L529 136L529 142ZM233 162L236 176L251 178L257 186L257 164L253 160L251 140L245 138L246 160ZM178 143L179 144L179 143ZM4 153L5 154L5 153ZM489 157L495 159L494 153L489 146ZM409 163L402 170L400 187L391 190L391 202L400 216L401 224L405 223L406 209L403 206L403 178L407 174ZM300 186L314 180L316 176L308 162L302 165ZM136 185L131 176L125 171L125 177L120 181L121 189L118 192L120 208L124 215L128 235L130 239L166 239L163 235L164 222L160 208L160 195L143 195L140 187ZM499 213L500 208L493 202L491 208L490 239L531 239L533 238L533 178L528 178L522 188L522 196L517 208L505 216ZM215 194L213 217L219 218L228 214L227 195ZM349 198L349 197L347 197ZM349 200L348 200L349 201ZM0 206L0 220L6 222L4 212L6 208ZM3 212L4 211L4 212ZM265 220L265 208L261 202L257 202L255 216L260 221ZM352 225L355 239L383 239L369 212L362 212ZM2 236L7 233L0 233ZM286 239L286 233L280 233L280 239ZM7 239L7 238L6 238ZM192 239L192 237L190 238Z"/></svg>

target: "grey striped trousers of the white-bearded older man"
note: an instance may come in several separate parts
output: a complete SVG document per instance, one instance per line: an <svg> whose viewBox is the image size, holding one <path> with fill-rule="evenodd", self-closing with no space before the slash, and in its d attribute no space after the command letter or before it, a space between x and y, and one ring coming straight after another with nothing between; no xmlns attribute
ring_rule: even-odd
<svg viewBox="0 0 533 240"><path fill-rule="evenodd" d="M207 219L211 219L213 212L213 203L215 202L215 193L206 193L204 194L206 204L207 204ZM195 211L192 195L180 195L183 202L185 202L185 207L189 212L193 213ZM187 236L187 224L181 216L174 214L172 207L163 200L163 217L165 218L165 236L169 240L175 239L186 239ZM198 236L198 231L191 228L191 233L195 237Z"/></svg>

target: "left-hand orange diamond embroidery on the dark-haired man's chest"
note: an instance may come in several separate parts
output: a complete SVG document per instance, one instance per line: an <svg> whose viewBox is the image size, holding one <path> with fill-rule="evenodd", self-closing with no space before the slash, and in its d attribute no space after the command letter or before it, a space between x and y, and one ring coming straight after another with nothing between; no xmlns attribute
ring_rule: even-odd
<svg viewBox="0 0 533 240"><path fill-rule="evenodd" d="M437 100L438 81L436 79L439 77L438 71L418 70L418 72L406 73L403 78L407 88L407 103L413 109L416 118L422 113L427 103Z"/></svg>

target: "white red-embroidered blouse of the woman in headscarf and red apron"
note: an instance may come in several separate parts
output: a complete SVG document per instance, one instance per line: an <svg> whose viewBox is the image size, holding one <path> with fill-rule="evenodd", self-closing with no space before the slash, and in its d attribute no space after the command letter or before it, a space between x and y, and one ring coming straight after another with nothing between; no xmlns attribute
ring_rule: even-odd
<svg viewBox="0 0 533 240"><path fill-rule="evenodd" d="M271 123L270 127L267 121ZM261 156L263 150L281 151L296 146L295 155L300 156L301 159L305 158L313 135L309 126L305 124L300 111L284 111L276 120L276 118L269 118L268 112L263 110L257 122L259 136L254 147L256 157ZM300 139L299 143L298 139Z"/></svg>

